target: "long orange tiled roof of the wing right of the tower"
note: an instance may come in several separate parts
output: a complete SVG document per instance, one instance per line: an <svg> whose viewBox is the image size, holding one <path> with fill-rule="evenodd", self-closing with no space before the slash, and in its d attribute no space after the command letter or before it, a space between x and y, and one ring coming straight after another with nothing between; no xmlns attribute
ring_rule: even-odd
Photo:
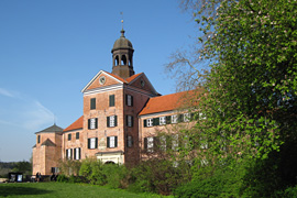
<svg viewBox="0 0 297 198"><path fill-rule="evenodd" d="M150 98L139 116L173 111L185 108L185 102L189 100L189 97L193 98L194 96L195 91L193 90Z"/></svg>

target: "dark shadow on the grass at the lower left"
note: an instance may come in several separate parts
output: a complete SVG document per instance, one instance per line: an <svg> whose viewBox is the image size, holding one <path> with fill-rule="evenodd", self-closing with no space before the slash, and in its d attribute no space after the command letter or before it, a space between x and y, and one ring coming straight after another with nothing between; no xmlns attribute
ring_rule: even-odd
<svg viewBox="0 0 297 198"><path fill-rule="evenodd" d="M50 193L52 191L32 187L9 186L9 184L0 185L1 197L18 196L18 195L44 195Z"/></svg>

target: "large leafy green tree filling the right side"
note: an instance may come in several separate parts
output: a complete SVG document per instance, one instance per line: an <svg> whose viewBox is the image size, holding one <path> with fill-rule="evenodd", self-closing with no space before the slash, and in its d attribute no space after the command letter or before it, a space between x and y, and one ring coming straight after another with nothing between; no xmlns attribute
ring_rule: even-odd
<svg viewBox="0 0 297 198"><path fill-rule="evenodd" d="M186 70L187 79L197 79L191 87L206 90L197 98L195 130L188 131L190 148L200 150L196 167L208 158L217 166L211 176L227 158L248 158L242 195L265 197L295 184L297 2L184 0L182 6L194 12L201 35L194 53L175 54L167 68ZM207 73L200 70L202 63Z"/></svg>

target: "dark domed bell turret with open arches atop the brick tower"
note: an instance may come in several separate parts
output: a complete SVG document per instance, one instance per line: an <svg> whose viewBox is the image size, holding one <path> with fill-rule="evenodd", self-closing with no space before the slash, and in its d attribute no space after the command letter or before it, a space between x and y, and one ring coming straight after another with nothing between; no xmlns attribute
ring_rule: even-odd
<svg viewBox="0 0 297 198"><path fill-rule="evenodd" d="M111 50L112 53L112 74L120 76L123 79L133 76L133 46L132 43L125 38L124 30L121 30L121 36L118 38Z"/></svg>

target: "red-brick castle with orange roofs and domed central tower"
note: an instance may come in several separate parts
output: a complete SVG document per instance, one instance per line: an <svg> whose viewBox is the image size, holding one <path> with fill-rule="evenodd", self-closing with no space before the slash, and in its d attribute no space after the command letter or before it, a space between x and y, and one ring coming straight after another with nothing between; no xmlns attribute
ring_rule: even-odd
<svg viewBox="0 0 297 198"><path fill-rule="evenodd" d="M123 30L111 53L112 72L100 70L81 90L84 114L64 130L53 125L36 133L33 173L50 175L59 160L94 156L135 164L141 150L152 150L156 129L189 121L189 113L177 112L185 92L161 96L144 73L134 73L134 48Z"/></svg>

